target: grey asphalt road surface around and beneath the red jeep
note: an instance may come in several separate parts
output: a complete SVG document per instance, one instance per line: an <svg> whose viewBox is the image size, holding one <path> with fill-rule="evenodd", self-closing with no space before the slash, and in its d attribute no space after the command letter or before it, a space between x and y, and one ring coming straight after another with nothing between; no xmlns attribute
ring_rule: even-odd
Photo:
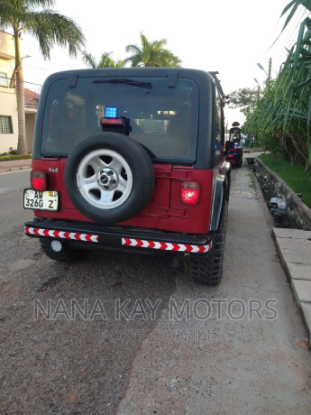
<svg viewBox="0 0 311 415"><path fill-rule="evenodd" d="M309 414L306 331L250 174L233 170L216 288L153 257L51 261L23 235L29 171L0 174L0 414Z"/></svg>

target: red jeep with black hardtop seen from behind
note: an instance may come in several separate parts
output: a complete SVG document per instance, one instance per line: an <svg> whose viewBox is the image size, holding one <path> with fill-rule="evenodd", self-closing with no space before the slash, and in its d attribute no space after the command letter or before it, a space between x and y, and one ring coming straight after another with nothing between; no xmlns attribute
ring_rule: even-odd
<svg viewBox="0 0 311 415"><path fill-rule="evenodd" d="M26 235L50 258L112 249L188 257L222 277L230 166L224 94L195 69L82 69L42 88Z"/></svg>

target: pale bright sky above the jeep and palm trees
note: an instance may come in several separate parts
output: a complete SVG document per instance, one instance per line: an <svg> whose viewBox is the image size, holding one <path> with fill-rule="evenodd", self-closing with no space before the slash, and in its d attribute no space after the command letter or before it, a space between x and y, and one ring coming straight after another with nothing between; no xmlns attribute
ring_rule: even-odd
<svg viewBox="0 0 311 415"><path fill-rule="evenodd" d="M141 45L140 33L147 39L166 39L166 48L182 61L183 68L217 70L224 93L238 88L257 88L267 78L257 63L268 72L272 59L272 77L286 58L288 48L297 39L298 24L305 9L278 38L284 24L280 18L289 0L56 0L54 10L72 18L85 34L86 50L96 60L104 52L113 52L114 60L128 56L127 44ZM68 51L55 47L50 60L43 60L38 43L23 36L25 87L40 91L51 73L82 69L81 57L69 58ZM226 107L227 108L227 107ZM238 110L225 110L226 123L243 122Z"/></svg>

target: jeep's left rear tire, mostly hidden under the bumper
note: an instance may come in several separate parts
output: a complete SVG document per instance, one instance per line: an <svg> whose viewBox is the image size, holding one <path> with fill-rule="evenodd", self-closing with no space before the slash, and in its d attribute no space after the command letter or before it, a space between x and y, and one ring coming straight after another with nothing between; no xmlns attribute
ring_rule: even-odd
<svg viewBox="0 0 311 415"><path fill-rule="evenodd" d="M51 244L55 242L61 244L59 251L51 247ZM41 238L40 244L44 254L49 256L50 259L61 263L77 263L83 261L87 256L87 251L75 249L66 242L60 243L58 239Z"/></svg>

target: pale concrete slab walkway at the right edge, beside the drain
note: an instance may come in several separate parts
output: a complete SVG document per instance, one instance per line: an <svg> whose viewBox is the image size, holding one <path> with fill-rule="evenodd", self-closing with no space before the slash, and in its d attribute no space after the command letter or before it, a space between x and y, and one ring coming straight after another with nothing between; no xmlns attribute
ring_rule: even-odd
<svg viewBox="0 0 311 415"><path fill-rule="evenodd" d="M311 231L273 228L272 235L306 324L311 346Z"/></svg>

